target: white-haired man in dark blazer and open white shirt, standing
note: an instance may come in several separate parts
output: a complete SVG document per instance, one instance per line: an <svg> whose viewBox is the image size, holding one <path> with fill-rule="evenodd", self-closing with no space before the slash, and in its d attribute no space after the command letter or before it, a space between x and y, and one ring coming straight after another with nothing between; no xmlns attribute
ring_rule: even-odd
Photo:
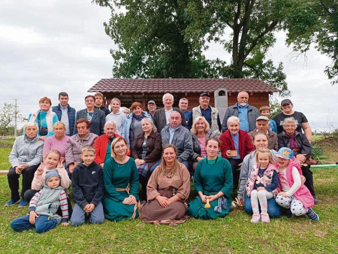
<svg viewBox="0 0 338 254"><path fill-rule="evenodd" d="M182 126L186 127L187 122L182 110L172 107L172 105L174 104L174 96L170 93L166 93L163 95L162 101L164 108L156 110L153 116L153 121L158 132L161 133L164 126L166 126L169 123L169 114L172 111L179 112L182 118Z"/></svg>

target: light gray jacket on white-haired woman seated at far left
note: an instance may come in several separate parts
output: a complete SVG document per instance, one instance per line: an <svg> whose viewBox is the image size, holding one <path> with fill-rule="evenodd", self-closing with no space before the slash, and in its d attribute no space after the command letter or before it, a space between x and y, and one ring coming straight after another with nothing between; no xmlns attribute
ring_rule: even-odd
<svg viewBox="0 0 338 254"><path fill-rule="evenodd" d="M42 162L43 141L39 136L29 141L26 135L15 139L12 151L9 154L9 163L13 168L20 164L28 167L39 165Z"/></svg>

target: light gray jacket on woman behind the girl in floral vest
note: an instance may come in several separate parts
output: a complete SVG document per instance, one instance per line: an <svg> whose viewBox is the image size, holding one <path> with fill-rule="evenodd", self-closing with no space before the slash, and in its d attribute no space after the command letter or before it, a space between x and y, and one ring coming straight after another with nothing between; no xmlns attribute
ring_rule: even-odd
<svg viewBox="0 0 338 254"><path fill-rule="evenodd" d="M270 150L272 157L275 158L277 153L275 150ZM247 156L244 157L243 164L241 166L241 173L239 175L239 188L237 192L237 197L244 200L246 195L245 184L251 174L252 167L256 163L256 150L250 152Z"/></svg>

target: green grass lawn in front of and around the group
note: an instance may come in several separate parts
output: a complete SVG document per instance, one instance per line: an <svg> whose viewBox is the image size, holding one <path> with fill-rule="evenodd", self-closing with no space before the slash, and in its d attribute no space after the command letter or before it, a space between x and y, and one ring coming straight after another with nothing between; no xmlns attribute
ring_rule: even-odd
<svg viewBox="0 0 338 254"><path fill-rule="evenodd" d="M324 149L324 153L338 158L338 151ZM0 158L3 165L4 159ZM318 222L302 216L251 224L249 215L235 210L224 219L191 219L177 227L105 220L77 228L59 225L37 234L11 230L10 221L26 215L27 209L3 206L10 191L6 176L1 175L0 253L337 253L338 170L317 169L313 176L320 201L314 206ZM192 188L191 198L195 195Z"/></svg>

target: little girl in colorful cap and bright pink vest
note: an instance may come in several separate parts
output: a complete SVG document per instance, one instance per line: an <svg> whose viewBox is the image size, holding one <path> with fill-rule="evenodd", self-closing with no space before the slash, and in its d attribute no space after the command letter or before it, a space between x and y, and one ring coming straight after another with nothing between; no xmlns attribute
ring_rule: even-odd
<svg viewBox="0 0 338 254"><path fill-rule="evenodd" d="M299 162L290 148L282 147L276 153L278 177L282 192L277 194L276 202L291 210L296 216L306 214L311 220L318 221L319 216L311 209L314 199L309 189L301 184Z"/></svg>

